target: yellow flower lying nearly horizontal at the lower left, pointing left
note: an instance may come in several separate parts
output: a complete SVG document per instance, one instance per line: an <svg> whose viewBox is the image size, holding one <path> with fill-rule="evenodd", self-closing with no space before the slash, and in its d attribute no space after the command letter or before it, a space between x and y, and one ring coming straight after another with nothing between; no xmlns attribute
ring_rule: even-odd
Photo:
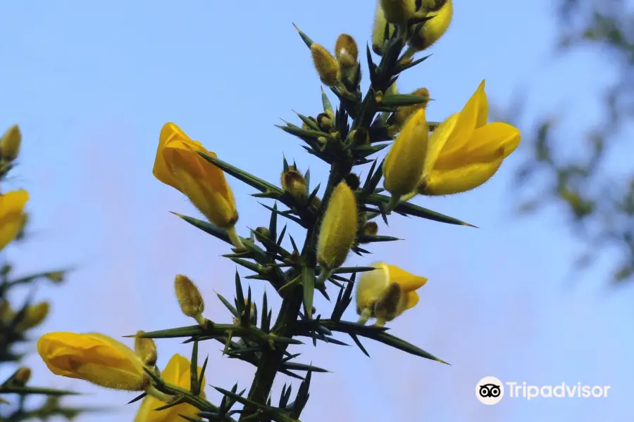
<svg viewBox="0 0 634 422"><path fill-rule="evenodd" d="M37 340L37 352L55 375L116 390L142 391L149 386L141 359L107 335L47 333Z"/></svg>

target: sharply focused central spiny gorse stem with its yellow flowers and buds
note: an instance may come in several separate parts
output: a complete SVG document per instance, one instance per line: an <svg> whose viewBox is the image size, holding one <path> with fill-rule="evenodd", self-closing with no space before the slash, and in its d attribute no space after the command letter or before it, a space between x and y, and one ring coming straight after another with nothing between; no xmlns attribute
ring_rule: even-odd
<svg viewBox="0 0 634 422"><path fill-rule="evenodd" d="M328 181L315 184L310 173L284 160L280 184L259 179L220 160L176 124L161 129L154 176L183 193L206 221L177 214L185 222L232 246L223 255L252 274L235 274L235 298L218 295L231 314L223 323L204 317L205 302L187 276L175 276L175 293L182 312L197 324L161 331L139 331L135 348L97 333L48 333L37 344L49 369L107 388L142 392L136 421L298 421L309 398L317 366L296 362L290 345L297 338L345 345L335 338L343 333L368 354L362 338L403 352L443 362L415 345L388 333L385 324L418 303L427 279L385 262L346 267L350 252L366 255L368 245L397 241L378 234L376 219L392 214L471 226L407 202L417 195L433 196L471 190L490 179L518 145L518 129L487 123L484 82L459 113L443 122L428 122L427 89L399 94L399 75L422 63L415 58L445 33L452 18L451 0L382 0L376 10L372 46L366 49L369 79L361 92L359 47L348 34L335 42L335 53L313 42L297 29L309 51L321 82L337 98L337 107L322 91L323 113L298 115L298 124L280 129L296 136L308 153L330 165ZM393 143L389 141L394 140ZM385 160L373 155L389 147ZM368 165L363 180L357 174ZM266 226L237 233L239 215L225 179L229 174L257 192L270 218ZM383 179L383 188L380 182ZM323 189L322 189L323 188ZM287 222L305 231L302 242L287 234ZM262 222L263 223L263 222ZM245 279L267 281L282 298L271 309L266 293L251 294ZM336 300L331 300L335 288ZM313 307L314 295L330 300L329 315ZM354 299L358 321L344 321ZM321 309L320 309L321 311ZM375 319L375 324L366 323ZM175 355L167 366L156 366L156 338L180 338L192 344L191 358ZM206 398L205 360L199 365L199 343L215 340L224 353L256 366L250 388L213 387L222 399ZM443 362L444 363L444 362ZM299 378L293 392L284 385L279 398L271 388L278 373Z"/></svg>

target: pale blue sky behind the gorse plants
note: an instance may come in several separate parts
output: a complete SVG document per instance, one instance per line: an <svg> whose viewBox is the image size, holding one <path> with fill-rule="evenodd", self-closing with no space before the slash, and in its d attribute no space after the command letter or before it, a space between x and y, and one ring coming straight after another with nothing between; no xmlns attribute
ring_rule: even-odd
<svg viewBox="0 0 634 422"><path fill-rule="evenodd" d="M165 122L175 122L223 160L263 179L278 179L282 151L302 170L310 167L312 179L324 176L323 163L273 126L280 118L293 120L292 110L320 111L320 83L291 23L329 48L340 32L363 45L371 32L371 2L231 3L58 0L0 6L6 17L0 27L0 124L18 123L24 136L10 186L30 190L34 213L32 238L8 250L8 257L22 273L78 267L66 285L38 290L38 298L54 303L42 332L118 336L190 324L173 298L178 273L201 287L207 317L228 320L213 294L232 294L234 264L218 257L227 252L225 245L170 215L197 213L151 174ZM613 75L590 53L550 62L551 2L490 0L483 7L456 1L455 9L433 57L400 79L402 90L427 87L435 98L428 118L442 120L461 108L481 79L487 79L490 101L499 106L523 84L531 92L528 115L570 112L563 129L574 149L576 122L597 117L597 104L587 98ZM576 288L566 288L578 245L561 215L554 209L518 220L511 212L509 180L521 151L471 193L417 200L480 229L402 217L389 229L380 226L381 233L406 241L373 248L375 260L429 278L420 305L394 321L392 332L452 366L369 342L372 359L352 347L306 346L304 362L333 372L316 376L304 421L326 414L347 421L631 418L630 296L626 290L605 292L609 262L602 261ZM250 188L235 179L230 184L244 235L247 226L262 225L268 217L248 196ZM251 287L261 293L265 286L256 281ZM354 318L352 309L349 317ZM210 356L208 382L230 387L240 381L246 388L253 369L226 362L218 348L201 347ZM189 349L162 340L159 364L175 352ZM75 402L119 412L80 422L132 420L136 405L124 406L132 395L56 378L35 355L26 363L35 371L34 383L87 392ZM475 383L484 376L612 388L607 399L505 399L485 407L474 397Z"/></svg>

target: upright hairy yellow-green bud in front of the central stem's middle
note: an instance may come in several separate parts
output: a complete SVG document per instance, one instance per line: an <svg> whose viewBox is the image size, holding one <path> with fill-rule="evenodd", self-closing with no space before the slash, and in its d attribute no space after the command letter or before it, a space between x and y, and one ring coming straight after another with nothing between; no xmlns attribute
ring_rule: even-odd
<svg viewBox="0 0 634 422"><path fill-rule="evenodd" d="M340 267L354 244L357 222L356 198L345 181L328 201L317 242L317 262L326 269Z"/></svg>

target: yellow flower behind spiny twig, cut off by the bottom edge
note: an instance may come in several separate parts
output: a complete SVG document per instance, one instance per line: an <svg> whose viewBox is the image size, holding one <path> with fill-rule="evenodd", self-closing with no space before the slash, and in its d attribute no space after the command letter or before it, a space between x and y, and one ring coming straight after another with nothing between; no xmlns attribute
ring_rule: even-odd
<svg viewBox="0 0 634 422"><path fill-rule="evenodd" d="M198 367L198 375L200 376L202 369ZM180 354L175 354L167 366L161 373L161 377L167 383L172 385L177 385L180 388L189 389L191 383L191 369L189 359L181 356ZM201 383L201 389L204 390L205 380L203 378ZM205 397L203 390L201 390L201 397ZM172 422L178 421L180 415L189 416L190 418L197 418L197 414L199 410L193 407L191 404L182 403L177 404L174 407L170 407L165 410L157 410L161 406L165 406L166 403L161 402L161 400L156 399L152 396L146 396L141 402L141 407L139 407L139 411L137 412L137 416L135 417L135 422ZM182 419L183 421L185 419Z"/></svg>

